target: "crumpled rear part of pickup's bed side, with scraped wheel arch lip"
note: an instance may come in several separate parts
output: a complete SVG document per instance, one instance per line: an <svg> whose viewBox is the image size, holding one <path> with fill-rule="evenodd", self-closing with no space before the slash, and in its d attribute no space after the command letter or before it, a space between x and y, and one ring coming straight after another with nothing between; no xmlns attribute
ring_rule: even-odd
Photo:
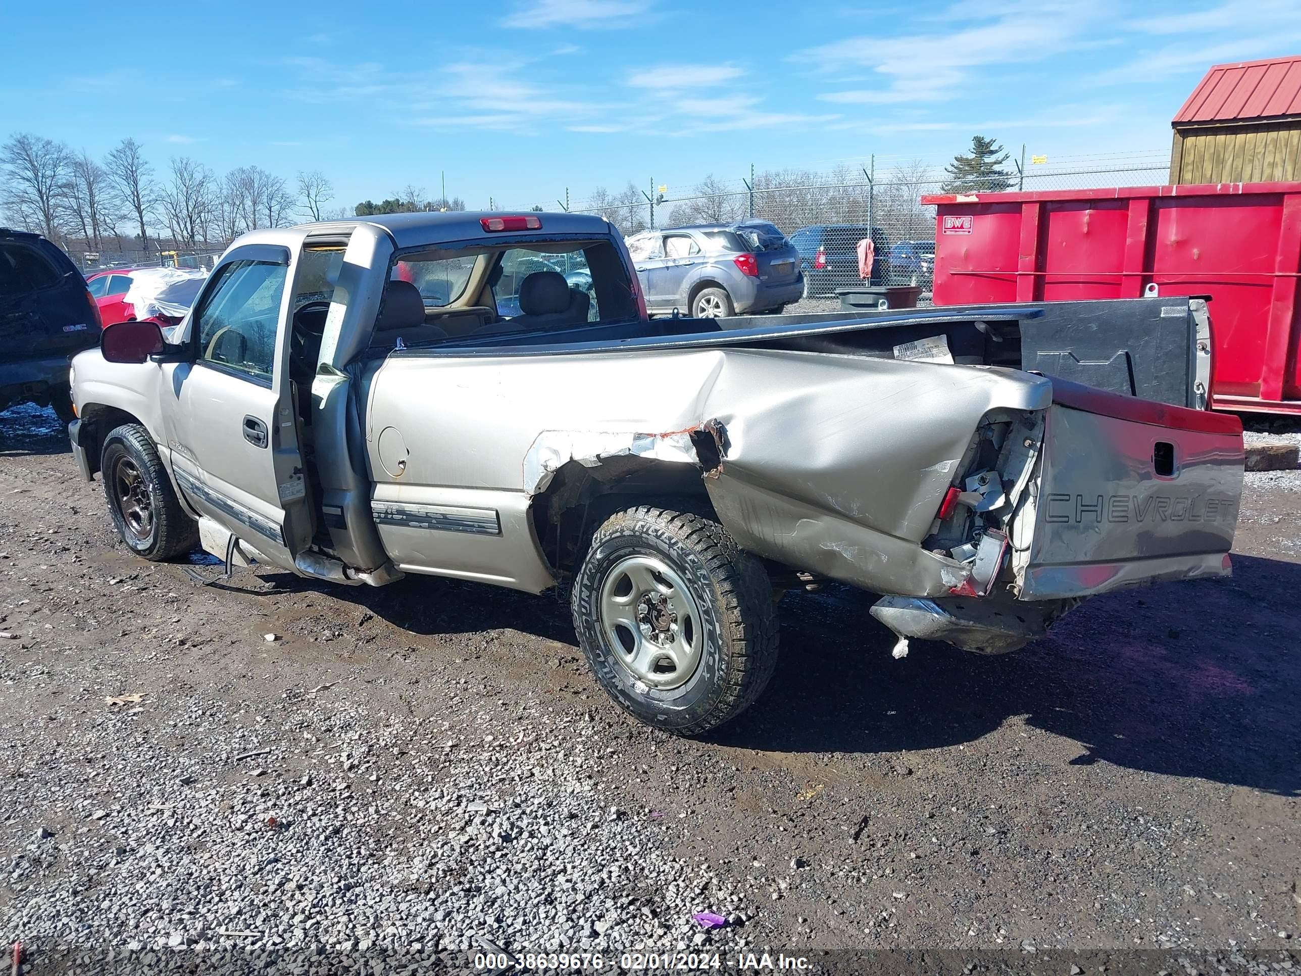
<svg viewBox="0 0 1301 976"><path fill-rule="evenodd" d="M777 350L718 353L693 423L544 431L524 489L562 465L697 463L719 519L762 557L882 593L939 596L968 570L921 548L981 418L1039 410L1047 380L1010 370Z"/></svg>

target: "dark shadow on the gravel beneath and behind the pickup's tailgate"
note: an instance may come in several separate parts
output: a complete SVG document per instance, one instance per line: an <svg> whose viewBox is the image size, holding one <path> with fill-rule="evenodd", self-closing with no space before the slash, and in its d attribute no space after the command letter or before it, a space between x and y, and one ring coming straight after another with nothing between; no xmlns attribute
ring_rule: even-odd
<svg viewBox="0 0 1301 976"><path fill-rule="evenodd" d="M1301 794L1301 565L1233 557L1232 579L1090 600L1002 657L892 635L839 587L782 603L782 660L721 744L895 752L972 742L1006 720L1075 739L1073 765Z"/></svg>

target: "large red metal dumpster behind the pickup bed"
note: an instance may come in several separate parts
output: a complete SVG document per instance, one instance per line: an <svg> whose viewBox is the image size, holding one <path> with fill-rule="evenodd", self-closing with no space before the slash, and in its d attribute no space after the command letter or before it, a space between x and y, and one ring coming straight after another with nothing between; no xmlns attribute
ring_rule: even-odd
<svg viewBox="0 0 1301 976"><path fill-rule="evenodd" d="M1301 414L1301 182L939 194L935 305L1209 295L1211 406Z"/></svg>

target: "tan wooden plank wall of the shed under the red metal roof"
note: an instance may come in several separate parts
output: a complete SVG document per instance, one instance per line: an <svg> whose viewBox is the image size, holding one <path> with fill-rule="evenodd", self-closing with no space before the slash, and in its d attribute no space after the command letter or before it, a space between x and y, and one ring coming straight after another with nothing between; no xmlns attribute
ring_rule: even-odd
<svg viewBox="0 0 1301 976"><path fill-rule="evenodd" d="M1301 118L1175 130L1171 183L1301 180Z"/></svg>

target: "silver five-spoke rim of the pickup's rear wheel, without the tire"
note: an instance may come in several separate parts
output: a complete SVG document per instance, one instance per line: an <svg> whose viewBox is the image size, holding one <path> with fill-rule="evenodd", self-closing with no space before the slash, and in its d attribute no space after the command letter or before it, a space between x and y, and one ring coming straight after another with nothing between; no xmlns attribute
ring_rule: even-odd
<svg viewBox="0 0 1301 976"><path fill-rule="evenodd" d="M628 556L605 575L601 630L614 658L661 691L680 687L700 665L700 609L677 570L654 556Z"/></svg>

